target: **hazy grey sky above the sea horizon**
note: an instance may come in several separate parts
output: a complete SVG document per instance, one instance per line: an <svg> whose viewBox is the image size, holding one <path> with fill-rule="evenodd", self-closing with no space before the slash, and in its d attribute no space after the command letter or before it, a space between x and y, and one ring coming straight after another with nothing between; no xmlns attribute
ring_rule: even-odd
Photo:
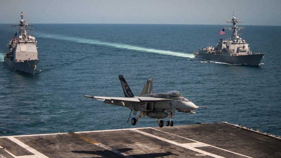
<svg viewBox="0 0 281 158"><path fill-rule="evenodd" d="M281 25L281 0L0 0L0 23Z"/></svg>

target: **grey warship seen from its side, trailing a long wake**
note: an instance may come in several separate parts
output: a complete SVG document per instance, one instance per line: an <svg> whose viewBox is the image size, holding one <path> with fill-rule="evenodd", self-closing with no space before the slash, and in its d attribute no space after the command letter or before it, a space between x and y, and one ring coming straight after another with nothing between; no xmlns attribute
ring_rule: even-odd
<svg viewBox="0 0 281 158"><path fill-rule="evenodd" d="M238 21L234 17L234 11L232 20L227 20L227 22L233 24L232 27L224 27L224 29L233 29L233 31L231 30L231 39L220 39L216 47L209 46L199 49L199 52L193 52L195 58L230 64L259 65L264 53L252 53L248 43L239 37L238 31L240 29L244 29L245 27L238 27L236 25L242 21ZM225 34L224 29L220 32L220 34ZM232 40L232 38L234 40Z"/></svg>

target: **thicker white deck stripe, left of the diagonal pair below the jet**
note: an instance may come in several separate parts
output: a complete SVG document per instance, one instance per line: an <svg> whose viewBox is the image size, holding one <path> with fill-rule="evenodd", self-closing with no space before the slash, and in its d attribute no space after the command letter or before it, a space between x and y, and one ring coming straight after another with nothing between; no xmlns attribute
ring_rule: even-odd
<svg viewBox="0 0 281 158"><path fill-rule="evenodd" d="M208 152L206 152L206 151L203 151L203 150L194 148L194 147L192 147L192 146L189 146L189 145L186 145L186 144L181 144L181 143L178 143L178 142L174 142L174 141L172 141L172 140L168 140L168 139L166 139L166 138L162 138L162 137L159 137L159 136L155 136L155 135L153 135L153 134L149 134L149 133L146 133L146 132L143 132L143 131L139 131L139 130L132 130L132 131L135 131L135 132L138 132L138 133L140 133L140 134L143 134L143 135L146 135L146 136L150 136L150 137L153 137L153 138L156 138L156 139L159 139L159 140L162 140L162 141L165 141L165 142L168 142L168 143L177 145L177 146L181 146L181 147L184 147L184 148L189 149L189 150L196 151L196 152L201 153L201 154L209 155L209 156L211 156L211 157L215 157L215 158L224 158L224 157L222 157L222 156L215 155L215 154L212 154L212 153L208 153Z"/></svg>

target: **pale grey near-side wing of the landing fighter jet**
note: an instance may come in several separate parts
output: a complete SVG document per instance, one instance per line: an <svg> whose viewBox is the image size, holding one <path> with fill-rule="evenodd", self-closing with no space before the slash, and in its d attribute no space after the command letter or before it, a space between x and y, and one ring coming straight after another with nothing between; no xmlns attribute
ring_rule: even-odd
<svg viewBox="0 0 281 158"><path fill-rule="evenodd" d="M124 101L131 101L131 102L143 102L143 101L159 101L159 100L172 100L166 98L153 98L153 97L100 97L100 96L86 96L86 98L92 98L97 100L124 100Z"/></svg>

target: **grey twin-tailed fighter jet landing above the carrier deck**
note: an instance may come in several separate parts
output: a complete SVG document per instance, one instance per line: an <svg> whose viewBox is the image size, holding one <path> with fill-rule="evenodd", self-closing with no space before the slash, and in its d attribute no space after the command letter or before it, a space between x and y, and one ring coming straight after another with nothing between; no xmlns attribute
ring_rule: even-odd
<svg viewBox="0 0 281 158"><path fill-rule="evenodd" d="M136 122L140 120L141 117L148 116L150 118L156 118L159 127L163 127L164 121L160 119L165 119L169 117L166 122L167 126L173 126L174 122L171 119L178 112L183 113L193 113L193 110L197 108L206 108L203 106L196 106L187 98L184 98L178 91L170 91L167 93L153 93L153 79L147 79L140 96L134 96L127 82L125 81L123 75L119 75L119 80L121 82L123 92L125 97L100 97L100 96L87 96L86 98L93 98L97 100L103 100L106 104L124 106L131 109L128 121L130 119L131 113L133 111L134 115L140 111L137 119L132 118L132 125L136 125ZM128 122L127 121L127 122Z"/></svg>

